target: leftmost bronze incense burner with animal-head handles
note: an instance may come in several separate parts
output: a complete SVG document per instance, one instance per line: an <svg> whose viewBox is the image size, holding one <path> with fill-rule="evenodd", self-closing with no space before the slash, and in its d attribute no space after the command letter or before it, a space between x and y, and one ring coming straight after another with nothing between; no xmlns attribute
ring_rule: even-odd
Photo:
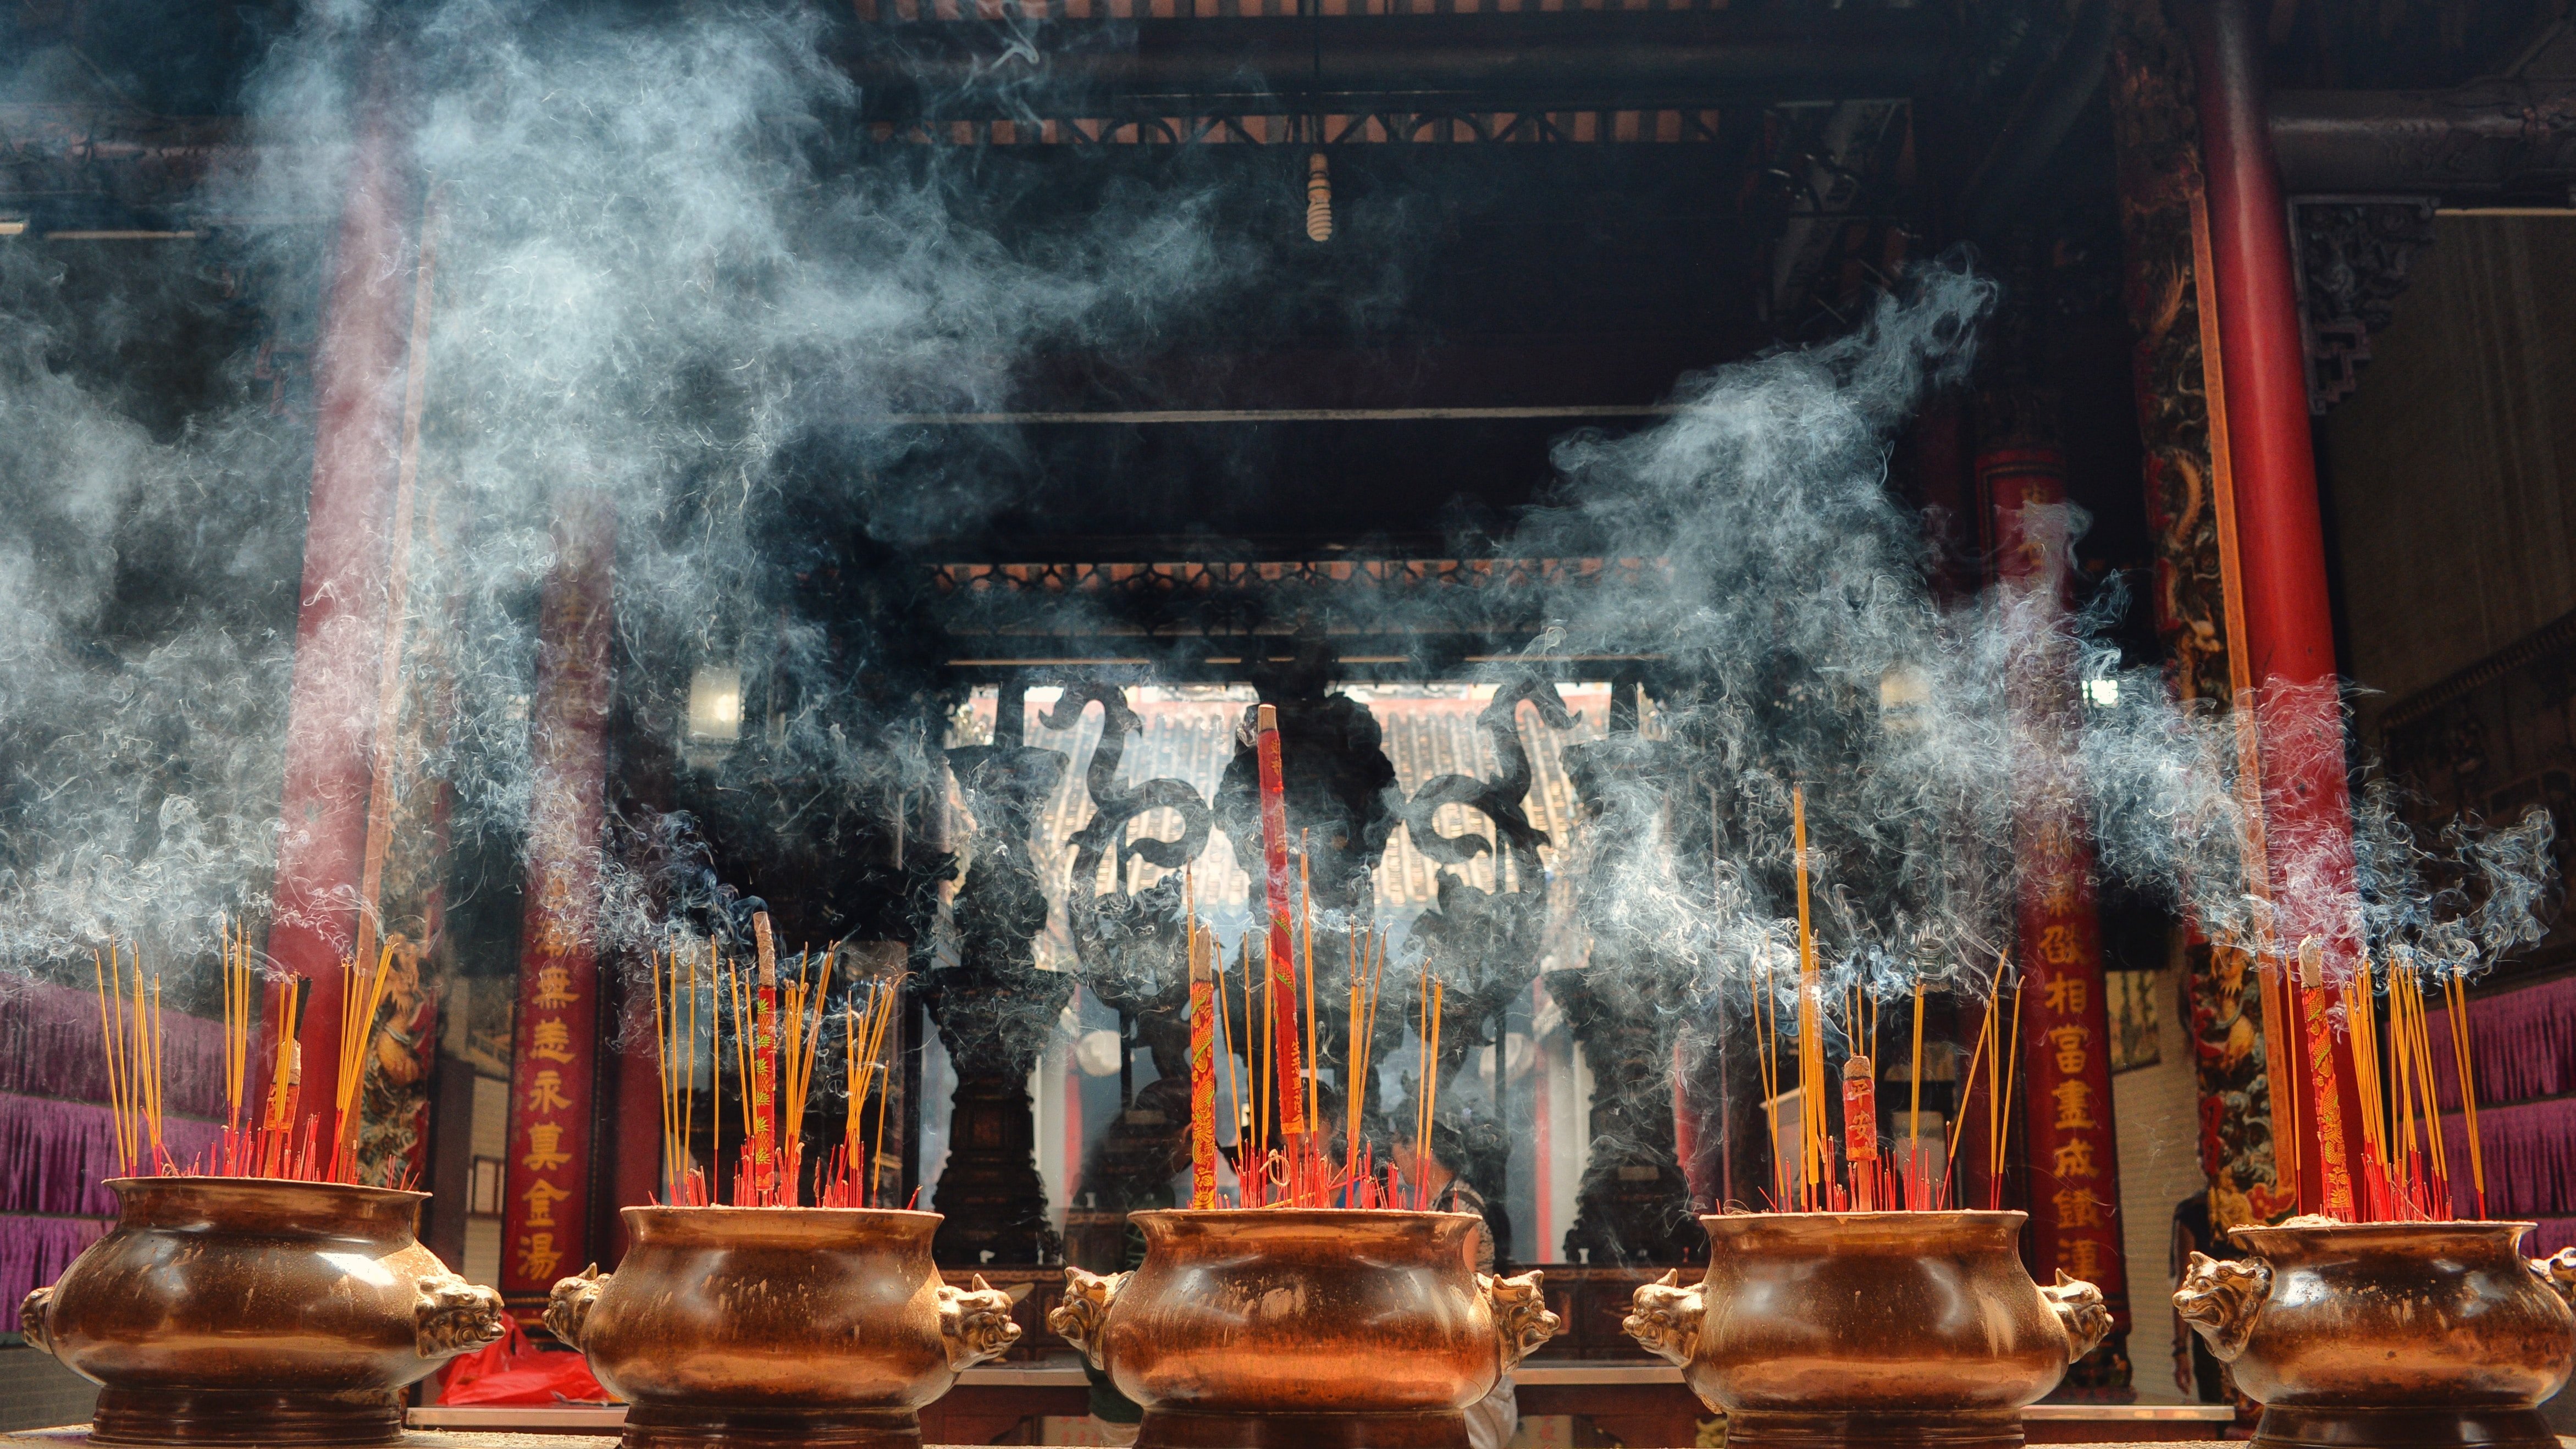
<svg viewBox="0 0 2576 1449"><path fill-rule="evenodd" d="M420 1246L428 1194L124 1176L116 1228L18 1307L100 1385L100 1444L389 1444L402 1390L502 1336L500 1295Z"/></svg>

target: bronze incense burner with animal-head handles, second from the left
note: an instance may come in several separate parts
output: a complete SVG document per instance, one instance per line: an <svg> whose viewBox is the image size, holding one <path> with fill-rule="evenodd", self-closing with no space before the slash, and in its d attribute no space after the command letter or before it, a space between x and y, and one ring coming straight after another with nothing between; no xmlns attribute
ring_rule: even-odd
<svg viewBox="0 0 2576 1449"><path fill-rule="evenodd" d="M917 1449L920 1408L1020 1338L1010 1295L940 1282L938 1212L623 1215L618 1271L554 1284L546 1328L631 1405L626 1449Z"/></svg>

